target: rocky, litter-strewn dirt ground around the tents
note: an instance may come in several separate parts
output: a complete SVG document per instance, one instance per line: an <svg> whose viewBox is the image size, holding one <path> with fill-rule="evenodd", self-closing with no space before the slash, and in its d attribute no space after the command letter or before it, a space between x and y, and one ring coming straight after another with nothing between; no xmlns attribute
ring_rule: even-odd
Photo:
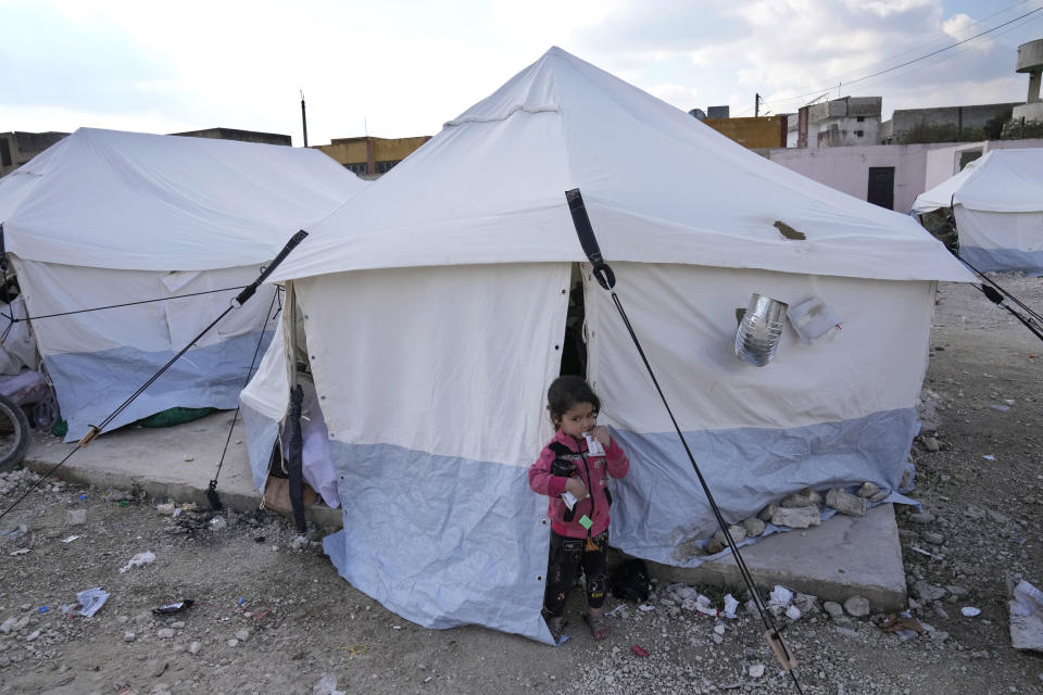
<svg viewBox="0 0 1043 695"><path fill-rule="evenodd" d="M996 279L1043 312L1043 279ZM784 633L804 693L1043 693L1043 655L1011 648L1006 603L1008 578L1043 587L1041 355L1043 342L978 290L940 287L925 382L939 424L912 451L929 515L896 508L925 632L904 640L872 617L805 611ZM0 478L0 509L30 476ZM718 634L714 618L662 603L664 586L653 610L616 612L601 643L581 629L578 594L560 648L426 630L352 589L317 543L296 547L279 517L215 528L210 513L174 518L162 502L48 481L0 521L0 693L331 692L324 677L345 693L797 692L757 618L740 612ZM79 510L86 522L70 523ZM155 560L120 571L143 552ZM63 612L96 586L111 596L95 617ZM185 598L196 603L184 612L151 612ZM967 606L981 615L964 617Z"/></svg>

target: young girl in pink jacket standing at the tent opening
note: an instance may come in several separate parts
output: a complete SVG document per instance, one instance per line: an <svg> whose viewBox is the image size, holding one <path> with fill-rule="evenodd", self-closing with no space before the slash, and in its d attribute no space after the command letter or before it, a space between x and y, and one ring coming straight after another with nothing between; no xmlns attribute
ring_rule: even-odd
<svg viewBox="0 0 1043 695"><path fill-rule="evenodd" d="M557 432L529 468L529 486L551 498L548 508L551 551L543 618L557 643L565 627L565 599L576 568L582 564L587 577L587 612L583 620L594 640L604 640L610 630L603 606L608 506L612 504L605 485L610 477L626 476L630 462L619 445L612 441L608 430L594 425L601 401L581 378L555 379L546 392L546 403L551 422ZM588 442L595 442L594 451L589 451ZM561 498L566 492L577 500L571 513Z"/></svg>

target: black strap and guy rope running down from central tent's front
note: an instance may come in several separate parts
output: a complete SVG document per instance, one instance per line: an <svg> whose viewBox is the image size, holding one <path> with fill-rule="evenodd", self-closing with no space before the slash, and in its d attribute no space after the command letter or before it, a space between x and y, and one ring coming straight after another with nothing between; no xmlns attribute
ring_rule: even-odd
<svg viewBox="0 0 1043 695"><path fill-rule="evenodd" d="M659 399L663 401L663 405L666 407L666 412L670 416L670 421L674 424L674 429L677 431L677 435L681 440L681 445L684 447L684 452L688 454L688 458L692 464L692 468L695 470L695 476L699 478L699 483L706 495L706 501L709 503L709 506L714 513L714 517L717 519L717 523L720 527L720 530L724 532L725 540L728 542L728 547L731 549L731 554L736 558L736 564L739 566L739 573L742 576L742 580L746 584L746 589L750 591L750 596L753 598L753 603L757 607L757 611L761 614L761 619L764 621L764 626L766 628L764 635L768 641L768 645L771 647L771 652L775 654L776 659L778 659L782 670L789 673L791 680L793 681L793 685L796 687L796 691L799 693L803 693L804 691L801 688L801 683L796 680L796 673L793 670L794 667L796 667L796 660L787 647L786 643L782 641L782 631L776 624L771 612L767 609L764 598L761 597L761 592L757 590L756 583L753 581L753 576L750 573L750 569L742 559L742 555L739 553L739 546L731 538L731 534L728 533L728 523L725 521L724 516L721 516L720 508L717 506L714 495L709 491L709 485L706 483L706 479L703 478L703 472L700 470L699 464L695 462L695 456L692 454L692 450L689 448L688 441L684 439L684 434L681 432L681 428L677 424L677 419L674 417L674 412L670 409L670 404L667 402L666 396L663 393L663 389L659 387L658 379L655 378L655 372L652 370L652 365L649 362L648 356L644 354L644 350L641 348L641 342L638 340L638 334L634 332L633 326L630 324L630 319L627 317L627 313L623 308L623 303L619 301L619 296L616 294L616 292L613 291L613 288L616 285L616 276L601 255L601 248L599 247L598 239L594 236L594 229L590 224L590 217L587 215L587 206L583 204L583 197L578 188L574 188L565 192L565 198L568 201L568 208L573 215L573 225L576 227L576 235L579 237L579 243L583 248L583 253L587 254L588 260L593 266L594 278L603 289L612 294L612 301L615 303L616 309L618 309L619 316L623 318L623 323L626 325L631 340L633 340L634 348L638 349L638 354L641 355L641 361L644 363L644 367L648 370L649 376L652 378L652 383L655 384L655 390L658 392Z"/></svg>

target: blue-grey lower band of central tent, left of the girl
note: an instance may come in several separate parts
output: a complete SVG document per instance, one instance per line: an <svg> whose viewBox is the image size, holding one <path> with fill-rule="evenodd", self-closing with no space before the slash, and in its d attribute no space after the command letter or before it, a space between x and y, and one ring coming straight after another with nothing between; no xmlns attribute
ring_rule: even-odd
<svg viewBox="0 0 1043 695"><path fill-rule="evenodd" d="M477 623L552 644L540 615L546 497L527 467L331 444L344 526L323 547L341 577L425 628Z"/></svg>

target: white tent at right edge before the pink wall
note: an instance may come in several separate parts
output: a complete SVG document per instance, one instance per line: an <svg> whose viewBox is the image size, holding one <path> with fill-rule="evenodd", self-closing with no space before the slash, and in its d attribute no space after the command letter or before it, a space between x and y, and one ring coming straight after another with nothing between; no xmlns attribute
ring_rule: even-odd
<svg viewBox="0 0 1043 695"><path fill-rule="evenodd" d="M993 150L913 203L916 213L943 207L969 264L1043 275L1043 150Z"/></svg>

